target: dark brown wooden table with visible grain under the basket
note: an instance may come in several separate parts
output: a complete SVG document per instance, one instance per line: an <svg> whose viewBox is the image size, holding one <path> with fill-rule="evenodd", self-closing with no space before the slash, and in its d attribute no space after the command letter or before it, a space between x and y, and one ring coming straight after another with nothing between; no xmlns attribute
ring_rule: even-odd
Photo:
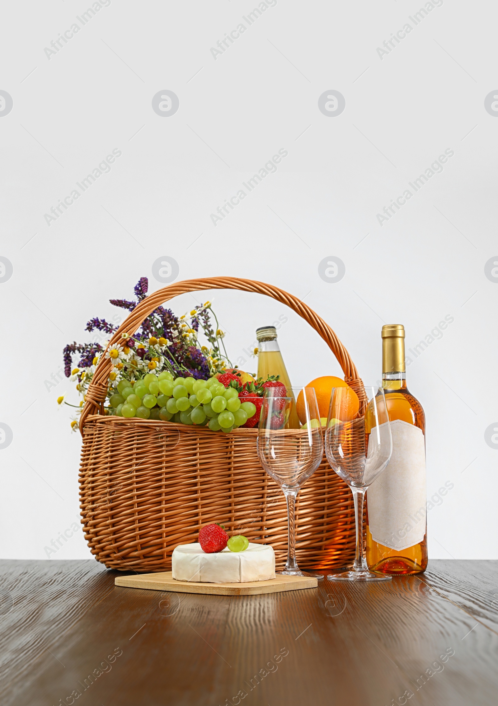
<svg viewBox="0 0 498 706"><path fill-rule="evenodd" d="M118 588L95 561L0 567L2 706L498 703L498 561L253 597Z"/></svg>

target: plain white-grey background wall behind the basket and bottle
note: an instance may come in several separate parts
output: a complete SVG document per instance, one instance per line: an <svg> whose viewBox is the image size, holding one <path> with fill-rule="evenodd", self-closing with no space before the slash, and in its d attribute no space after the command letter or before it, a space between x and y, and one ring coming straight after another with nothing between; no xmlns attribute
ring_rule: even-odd
<svg viewBox="0 0 498 706"><path fill-rule="evenodd" d="M365 383L381 376L383 323L403 323L408 348L453 317L408 368L427 416L428 497L454 484L428 513L429 556L497 558L498 450L485 430L498 419L498 284L485 263L498 252L498 119L484 104L498 84L496 4L445 0L415 26L415 0L278 0L249 26L249 1L112 0L48 59L45 47L88 6L1 10L0 89L13 98L0 119L0 256L13 265L0 284L0 421L13 431L0 450L1 556L46 558L78 521L81 439L56 402L64 391L78 398L65 378L50 390L45 381L66 343L90 340L90 318L121 313L109 298L131 298L141 276L150 291L161 286L152 264L169 256L179 280L247 277L305 297ZM247 31L214 59L211 47L241 21ZM377 47L407 22L413 31L381 59ZM165 89L179 97L172 116L152 109ZM345 97L337 116L318 108L331 89ZM112 171L47 225L44 214L113 148ZM278 171L213 225L211 213L280 148ZM444 171L379 225L377 213L446 149ZM318 273L332 256L346 268L335 283ZM293 383L340 374L285 307L206 296L232 359L285 313ZM81 532L52 554L89 557Z"/></svg>

